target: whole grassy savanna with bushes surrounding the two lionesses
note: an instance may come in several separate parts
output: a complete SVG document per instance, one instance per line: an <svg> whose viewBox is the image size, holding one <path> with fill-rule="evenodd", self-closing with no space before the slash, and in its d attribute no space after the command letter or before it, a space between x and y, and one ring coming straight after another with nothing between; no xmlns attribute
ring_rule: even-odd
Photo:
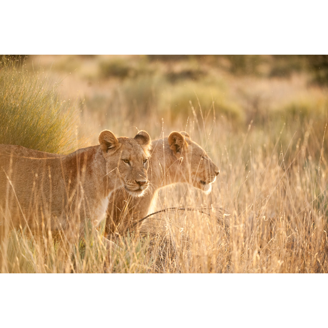
<svg viewBox="0 0 328 328"><path fill-rule="evenodd" d="M15 60L15 58L13 58ZM12 230L1 272L327 273L326 56L28 56L2 58L0 143L53 153L100 131L152 139L187 131L220 168L209 195L160 190L147 236L86 229L57 256L52 233ZM231 213L228 229L218 209ZM4 220L4 212L1 212ZM104 225L99 227L100 235Z"/></svg>

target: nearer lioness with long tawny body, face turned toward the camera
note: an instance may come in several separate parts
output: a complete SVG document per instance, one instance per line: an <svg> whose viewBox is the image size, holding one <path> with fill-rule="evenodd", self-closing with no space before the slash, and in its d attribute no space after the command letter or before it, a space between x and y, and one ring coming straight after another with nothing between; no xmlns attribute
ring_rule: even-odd
<svg viewBox="0 0 328 328"><path fill-rule="evenodd" d="M145 193L150 144L145 131L116 138L105 130L99 145L68 155L0 145L0 217L10 227L31 230L44 224L51 230L71 226L81 232L89 219L97 226L113 190Z"/></svg>

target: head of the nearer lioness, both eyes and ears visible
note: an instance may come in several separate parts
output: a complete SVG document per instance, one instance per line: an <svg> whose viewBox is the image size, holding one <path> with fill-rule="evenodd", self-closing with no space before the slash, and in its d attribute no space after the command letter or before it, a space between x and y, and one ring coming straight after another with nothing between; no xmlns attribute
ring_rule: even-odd
<svg viewBox="0 0 328 328"><path fill-rule="evenodd" d="M149 186L147 178L151 139L140 131L134 138L119 137L108 130L99 135L111 183L124 188L132 196L142 196ZM113 170L113 168L115 168Z"/></svg>

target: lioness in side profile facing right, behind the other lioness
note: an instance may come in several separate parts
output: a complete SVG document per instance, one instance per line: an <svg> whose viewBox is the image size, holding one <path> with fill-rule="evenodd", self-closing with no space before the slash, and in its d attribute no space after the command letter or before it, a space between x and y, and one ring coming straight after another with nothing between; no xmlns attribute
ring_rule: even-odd
<svg viewBox="0 0 328 328"><path fill-rule="evenodd" d="M106 217L106 234L124 233L139 219L150 214L156 191L176 182L186 182L207 193L219 174L205 150L191 140L188 133L172 132L164 139L153 140L149 159L150 187L140 198L129 197L119 189L110 196Z"/></svg>

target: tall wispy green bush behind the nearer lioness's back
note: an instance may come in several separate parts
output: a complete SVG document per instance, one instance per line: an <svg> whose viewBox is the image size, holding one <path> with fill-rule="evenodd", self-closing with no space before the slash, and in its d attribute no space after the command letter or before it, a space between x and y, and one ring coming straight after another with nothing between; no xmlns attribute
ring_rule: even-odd
<svg viewBox="0 0 328 328"><path fill-rule="evenodd" d="M19 57L0 62L0 143L50 153L76 149L75 106L61 101L58 83L30 74Z"/></svg>

